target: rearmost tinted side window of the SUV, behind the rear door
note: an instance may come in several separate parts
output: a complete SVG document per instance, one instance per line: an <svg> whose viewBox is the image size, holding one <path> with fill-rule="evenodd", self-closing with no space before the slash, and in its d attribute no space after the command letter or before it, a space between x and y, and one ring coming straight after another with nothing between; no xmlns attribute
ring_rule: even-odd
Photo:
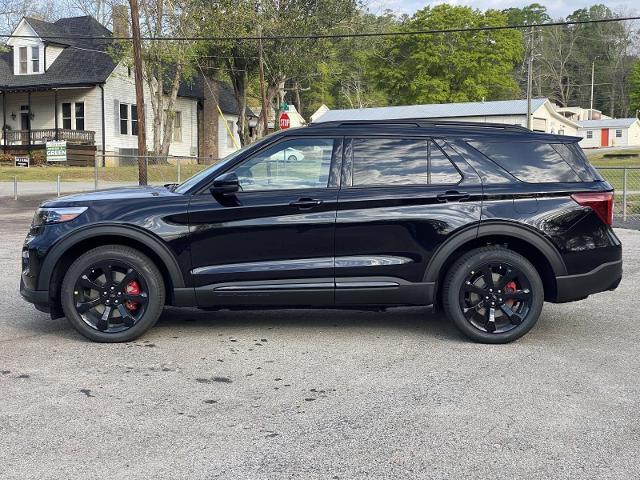
<svg viewBox="0 0 640 480"><path fill-rule="evenodd" d="M469 142L518 180L529 183L579 182L558 151L540 142Z"/></svg>

